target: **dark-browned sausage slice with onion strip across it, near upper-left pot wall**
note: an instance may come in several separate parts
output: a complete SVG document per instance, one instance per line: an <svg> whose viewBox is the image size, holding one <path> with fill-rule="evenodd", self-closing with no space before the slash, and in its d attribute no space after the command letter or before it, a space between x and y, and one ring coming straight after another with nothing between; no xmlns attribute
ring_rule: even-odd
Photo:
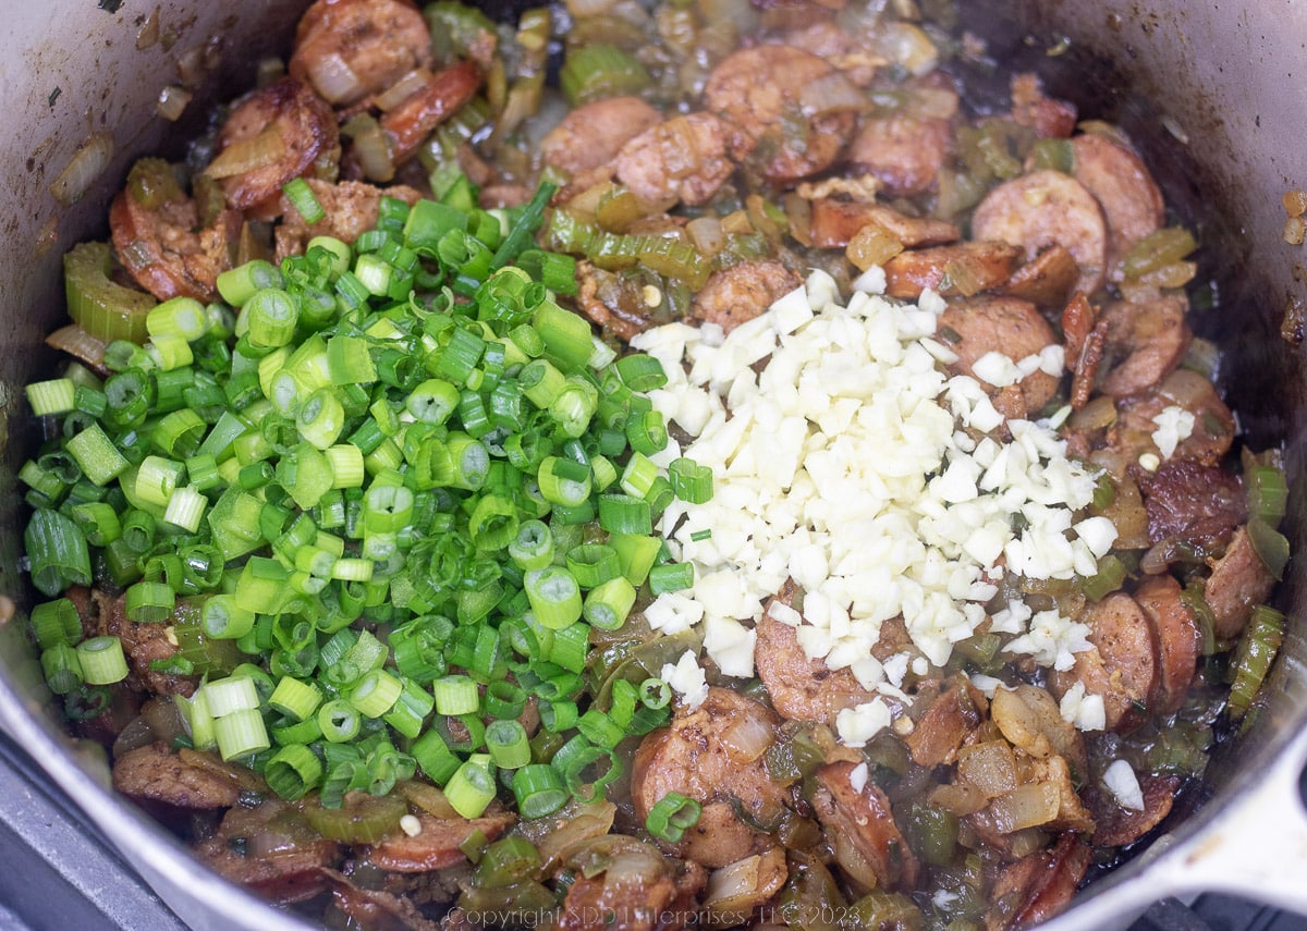
<svg viewBox="0 0 1307 931"><path fill-rule="evenodd" d="M218 171L222 153L231 146L257 145L267 136L268 161L237 174ZM274 143L272 140L276 140ZM237 211L276 199L286 182L311 171L320 158L339 158L340 132L336 115L318 94L291 77L284 77L242 99L218 131L218 150L212 174Z"/></svg>

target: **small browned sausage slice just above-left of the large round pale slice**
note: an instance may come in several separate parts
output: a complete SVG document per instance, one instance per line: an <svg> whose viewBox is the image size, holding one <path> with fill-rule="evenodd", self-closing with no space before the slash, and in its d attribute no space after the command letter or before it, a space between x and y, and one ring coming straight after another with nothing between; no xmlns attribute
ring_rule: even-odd
<svg viewBox="0 0 1307 931"><path fill-rule="evenodd" d="M946 119L887 116L863 124L847 158L855 169L878 178L886 194L910 197L935 186L951 143L953 127Z"/></svg>

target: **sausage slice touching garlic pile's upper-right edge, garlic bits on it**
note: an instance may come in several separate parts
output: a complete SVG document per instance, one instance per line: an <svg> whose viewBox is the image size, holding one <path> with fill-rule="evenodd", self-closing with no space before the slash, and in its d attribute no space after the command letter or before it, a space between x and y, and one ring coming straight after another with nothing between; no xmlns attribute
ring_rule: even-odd
<svg viewBox="0 0 1307 931"><path fill-rule="evenodd" d="M1033 303L1012 297L955 301L940 314L940 332L945 330L951 331L949 348L958 356L950 367L966 375L975 374L972 366L985 353L999 352L1017 361L1057 341ZM1039 411L1057 392L1057 379L1039 370L1017 386L1026 412Z"/></svg>

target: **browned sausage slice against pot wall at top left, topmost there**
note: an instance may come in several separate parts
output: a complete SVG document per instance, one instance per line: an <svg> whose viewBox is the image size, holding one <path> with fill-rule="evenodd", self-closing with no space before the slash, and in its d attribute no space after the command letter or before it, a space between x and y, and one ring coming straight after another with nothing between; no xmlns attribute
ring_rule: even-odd
<svg viewBox="0 0 1307 931"><path fill-rule="evenodd" d="M431 64L431 33L409 0L318 0L299 18L290 76L349 106Z"/></svg>

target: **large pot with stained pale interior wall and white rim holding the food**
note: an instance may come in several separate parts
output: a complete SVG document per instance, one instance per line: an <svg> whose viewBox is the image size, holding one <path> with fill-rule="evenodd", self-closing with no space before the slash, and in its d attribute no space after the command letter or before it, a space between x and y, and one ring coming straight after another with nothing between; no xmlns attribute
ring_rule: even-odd
<svg viewBox="0 0 1307 931"><path fill-rule="evenodd" d="M43 337L63 310L60 256L103 237L106 204L132 161L176 157L208 105L248 85L252 64L285 52L303 0L47 0L7 4L0 39L0 594L20 605L25 514L14 472L34 446L22 386L55 362ZM493 4L491 4L493 5ZM1000 61L1044 75L1052 95L1123 124L1199 229L1218 310L1196 328L1221 341L1219 384L1253 449L1281 438L1290 514L1303 503L1307 370L1293 339L1307 327L1307 251L1281 238L1281 195L1307 186L1307 5L1295 0L958 0L965 25ZM491 13L502 12L490 9ZM1052 54L1060 52L1060 54ZM156 112L166 85L196 97L180 126ZM105 170L63 205L51 184L94 139ZM173 140L171 148L169 140ZM64 180L69 180L65 174ZM1291 522L1307 553L1307 522ZM1172 834L1094 884L1050 931L1124 926L1149 904L1222 890L1307 915L1307 562L1290 564L1278 607L1291 618L1255 726L1218 749L1210 788ZM176 913L196 928L305 928L210 873L162 828L106 790L103 762L73 749L46 705L21 621L0 622L0 726L44 766Z"/></svg>

